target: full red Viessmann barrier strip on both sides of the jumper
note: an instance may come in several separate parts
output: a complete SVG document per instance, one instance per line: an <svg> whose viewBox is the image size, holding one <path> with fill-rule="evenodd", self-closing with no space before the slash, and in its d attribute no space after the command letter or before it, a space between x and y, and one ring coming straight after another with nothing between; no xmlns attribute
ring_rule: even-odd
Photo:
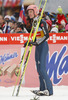
<svg viewBox="0 0 68 100"><path fill-rule="evenodd" d="M50 33L49 44L68 43L67 33ZM33 36L33 34L32 34ZM31 36L31 39L32 39ZM0 44L24 44L29 38L29 33L23 34L0 34Z"/></svg>

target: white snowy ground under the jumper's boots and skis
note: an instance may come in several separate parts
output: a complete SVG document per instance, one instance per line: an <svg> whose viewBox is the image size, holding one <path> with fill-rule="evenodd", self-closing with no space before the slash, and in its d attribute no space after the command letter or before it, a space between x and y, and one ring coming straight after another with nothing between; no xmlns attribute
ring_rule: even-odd
<svg viewBox="0 0 68 100"><path fill-rule="evenodd" d="M68 86L54 86L53 88L53 96L40 96L39 100L68 100ZM38 88L21 87L18 97L12 96L13 89L14 87L0 87L0 100L34 100L35 95L30 90Z"/></svg>

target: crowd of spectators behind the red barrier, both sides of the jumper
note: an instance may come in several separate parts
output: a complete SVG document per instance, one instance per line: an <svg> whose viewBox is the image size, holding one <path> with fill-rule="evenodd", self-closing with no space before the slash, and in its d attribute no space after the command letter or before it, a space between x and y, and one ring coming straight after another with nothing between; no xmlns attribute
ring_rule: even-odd
<svg viewBox="0 0 68 100"><path fill-rule="evenodd" d="M39 10L39 14L41 10ZM46 20L50 33L68 33L68 13L64 14L61 6L58 6L57 13L44 12L43 19ZM0 15L0 34L28 33L26 27L27 25L19 22L14 15L4 17Z"/></svg>

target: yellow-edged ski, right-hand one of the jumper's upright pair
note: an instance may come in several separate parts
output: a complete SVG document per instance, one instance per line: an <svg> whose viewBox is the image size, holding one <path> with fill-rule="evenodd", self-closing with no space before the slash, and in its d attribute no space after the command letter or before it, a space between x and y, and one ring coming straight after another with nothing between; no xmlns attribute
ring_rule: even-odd
<svg viewBox="0 0 68 100"><path fill-rule="evenodd" d="M36 37L36 34L37 34L37 32L38 32L39 24L40 24L40 21L41 21L42 16L43 16L43 12L44 12L44 9L45 9L45 6L46 6L46 3L47 3L47 0L45 0L44 6L43 6L43 9L42 9L42 12L41 12L41 16L40 16L39 19L38 19L38 24L37 24L37 27L36 27L36 31L35 31L35 33L34 33L34 35L33 35L33 39L32 39L33 42L34 42L35 37ZM26 67L27 67L27 63L28 63L28 60L29 60L29 57L30 57L30 53L31 53L32 47L33 47L33 45L29 47L28 58L27 58L27 61L26 61L25 66L24 66L23 73L22 73L22 75L21 75L21 79L20 79L20 82L19 82L19 85L18 85L18 89L17 89L16 96L18 96L19 91L20 91L20 87L21 87L21 84L22 84L22 80L23 80L23 77L24 77L24 74L25 74L25 70L26 70Z"/></svg>

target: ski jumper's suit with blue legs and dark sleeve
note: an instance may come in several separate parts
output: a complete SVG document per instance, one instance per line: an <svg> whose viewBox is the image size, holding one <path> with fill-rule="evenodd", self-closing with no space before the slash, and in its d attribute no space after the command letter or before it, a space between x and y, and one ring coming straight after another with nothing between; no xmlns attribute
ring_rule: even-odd
<svg viewBox="0 0 68 100"><path fill-rule="evenodd" d="M42 29L44 35L39 36L36 35L36 49L35 49L35 61L37 72L39 74L39 81L40 81L40 91L48 90L49 95L53 94L53 87L49 76L47 75L46 71L46 57L48 55L48 43L45 41L49 37L49 33L46 27L46 22L41 20L40 28ZM38 39L37 39L38 38ZM37 42L38 41L38 42Z"/></svg>

